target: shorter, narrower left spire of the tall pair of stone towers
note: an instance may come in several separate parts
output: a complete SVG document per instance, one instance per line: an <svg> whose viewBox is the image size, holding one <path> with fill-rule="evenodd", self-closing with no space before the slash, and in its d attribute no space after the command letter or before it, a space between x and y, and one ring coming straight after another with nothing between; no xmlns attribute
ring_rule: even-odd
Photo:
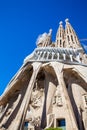
<svg viewBox="0 0 87 130"><path fill-rule="evenodd" d="M55 47L64 47L64 28L62 25L62 21L59 23L59 28L56 34L56 43Z"/></svg>

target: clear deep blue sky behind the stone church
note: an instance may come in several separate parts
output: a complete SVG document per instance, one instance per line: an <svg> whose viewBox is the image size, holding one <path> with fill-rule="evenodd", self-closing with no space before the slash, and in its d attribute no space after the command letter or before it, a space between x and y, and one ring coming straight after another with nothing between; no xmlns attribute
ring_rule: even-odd
<svg viewBox="0 0 87 130"><path fill-rule="evenodd" d="M36 47L38 35L52 28L54 41L65 18L80 39L87 38L87 0L0 0L0 95Z"/></svg>

